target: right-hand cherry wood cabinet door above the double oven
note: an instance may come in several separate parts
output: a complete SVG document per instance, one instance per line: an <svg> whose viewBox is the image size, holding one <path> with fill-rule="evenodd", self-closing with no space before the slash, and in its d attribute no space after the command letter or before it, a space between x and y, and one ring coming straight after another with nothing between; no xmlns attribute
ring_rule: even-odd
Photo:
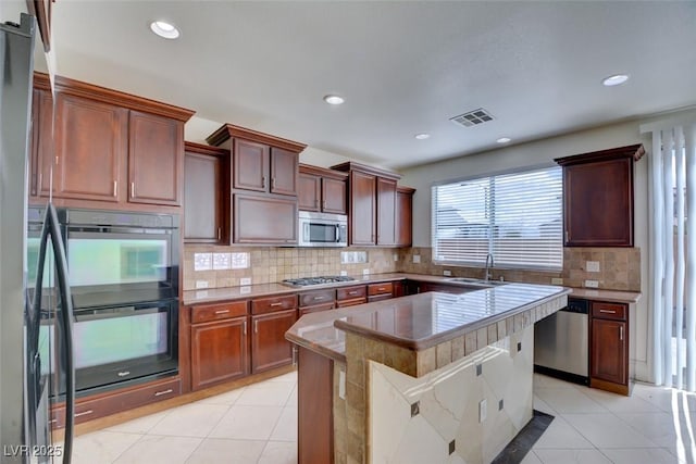
<svg viewBox="0 0 696 464"><path fill-rule="evenodd" d="M184 123L130 112L128 201L181 205Z"/></svg>

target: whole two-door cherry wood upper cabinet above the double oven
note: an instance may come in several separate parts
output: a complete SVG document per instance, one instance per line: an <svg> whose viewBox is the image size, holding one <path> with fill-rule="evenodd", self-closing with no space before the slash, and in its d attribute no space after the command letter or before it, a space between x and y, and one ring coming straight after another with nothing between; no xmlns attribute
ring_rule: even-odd
<svg viewBox="0 0 696 464"><path fill-rule="evenodd" d="M32 197L48 196L52 180L61 206L181 205L192 111L61 76L53 109L46 74L34 88Z"/></svg>

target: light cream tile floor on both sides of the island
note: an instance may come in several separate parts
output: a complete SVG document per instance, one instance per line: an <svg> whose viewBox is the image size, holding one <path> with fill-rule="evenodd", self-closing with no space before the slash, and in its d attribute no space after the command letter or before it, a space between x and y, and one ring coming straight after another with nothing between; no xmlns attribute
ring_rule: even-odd
<svg viewBox="0 0 696 464"><path fill-rule="evenodd" d="M626 398L535 374L534 406L556 418L523 464L696 462L695 394L636 384ZM296 463L297 375L77 437L73 462Z"/></svg>

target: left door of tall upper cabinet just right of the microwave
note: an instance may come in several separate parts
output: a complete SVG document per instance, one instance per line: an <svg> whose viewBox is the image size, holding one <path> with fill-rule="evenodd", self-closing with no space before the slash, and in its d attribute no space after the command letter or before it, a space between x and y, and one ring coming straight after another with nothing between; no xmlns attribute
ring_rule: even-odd
<svg viewBox="0 0 696 464"><path fill-rule="evenodd" d="M376 177L350 173L350 243L375 243Z"/></svg>

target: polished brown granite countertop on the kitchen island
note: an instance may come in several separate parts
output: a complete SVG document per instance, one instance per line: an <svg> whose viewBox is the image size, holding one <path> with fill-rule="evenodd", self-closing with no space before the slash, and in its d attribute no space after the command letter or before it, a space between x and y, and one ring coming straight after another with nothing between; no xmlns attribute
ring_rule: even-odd
<svg viewBox="0 0 696 464"><path fill-rule="evenodd" d="M423 350L569 292L563 287L529 284L462 294L425 292L307 314L286 333L286 338L340 362L345 362L345 331Z"/></svg>

